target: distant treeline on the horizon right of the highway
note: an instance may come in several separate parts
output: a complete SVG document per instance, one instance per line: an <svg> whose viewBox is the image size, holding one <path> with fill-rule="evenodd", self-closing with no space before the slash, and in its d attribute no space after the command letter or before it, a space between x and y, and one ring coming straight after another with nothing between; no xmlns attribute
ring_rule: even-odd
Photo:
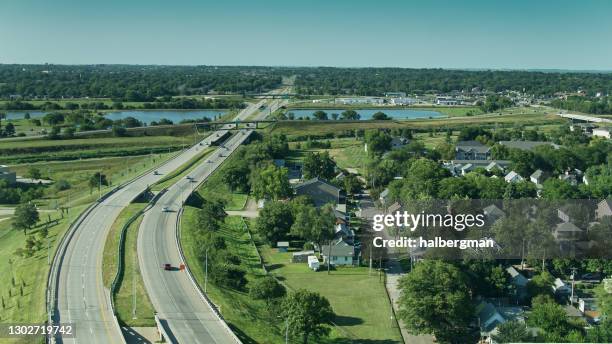
<svg viewBox="0 0 612 344"><path fill-rule="evenodd" d="M535 95L582 89L595 95L612 90L612 73L321 67L299 73L295 84L300 94L382 96L391 91L445 93L480 88Z"/></svg>

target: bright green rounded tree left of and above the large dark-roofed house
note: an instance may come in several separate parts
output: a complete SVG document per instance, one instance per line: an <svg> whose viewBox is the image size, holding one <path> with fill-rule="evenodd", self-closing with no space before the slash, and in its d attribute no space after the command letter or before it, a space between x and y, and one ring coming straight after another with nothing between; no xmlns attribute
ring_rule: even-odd
<svg viewBox="0 0 612 344"><path fill-rule="evenodd" d="M286 168L272 164L253 170L251 192L257 199L278 200L291 195L288 173Z"/></svg>

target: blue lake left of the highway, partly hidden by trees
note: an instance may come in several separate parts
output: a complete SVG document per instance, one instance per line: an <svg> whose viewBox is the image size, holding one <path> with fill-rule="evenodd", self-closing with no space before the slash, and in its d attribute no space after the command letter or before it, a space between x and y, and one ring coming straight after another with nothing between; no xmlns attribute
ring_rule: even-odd
<svg viewBox="0 0 612 344"><path fill-rule="evenodd" d="M162 118L166 118L174 122L179 123L184 119L201 119L208 117L214 119L215 116L221 116L225 114L226 110L125 110L125 111L111 111L106 112L106 118L112 120L124 119L126 117L134 117L137 120L146 124L152 121L159 122ZM30 114L31 118L41 118L48 112L45 111L7 111L7 119L21 119L26 113Z"/></svg>

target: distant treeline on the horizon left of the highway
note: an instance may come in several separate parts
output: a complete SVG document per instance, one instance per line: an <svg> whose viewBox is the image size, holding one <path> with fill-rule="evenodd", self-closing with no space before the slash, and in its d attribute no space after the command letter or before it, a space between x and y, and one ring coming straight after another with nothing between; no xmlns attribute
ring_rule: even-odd
<svg viewBox="0 0 612 344"><path fill-rule="evenodd" d="M265 92L276 68L130 65L0 65L0 97L91 97L148 102L155 97Z"/></svg>

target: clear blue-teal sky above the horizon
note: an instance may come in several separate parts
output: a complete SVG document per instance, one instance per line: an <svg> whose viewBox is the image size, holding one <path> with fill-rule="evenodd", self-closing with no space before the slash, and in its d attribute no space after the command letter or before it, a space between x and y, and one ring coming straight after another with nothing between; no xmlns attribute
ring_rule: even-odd
<svg viewBox="0 0 612 344"><path fill-rule="evenodd" d="M612 70L612 1L0 3L0 63Z"/></svg>

